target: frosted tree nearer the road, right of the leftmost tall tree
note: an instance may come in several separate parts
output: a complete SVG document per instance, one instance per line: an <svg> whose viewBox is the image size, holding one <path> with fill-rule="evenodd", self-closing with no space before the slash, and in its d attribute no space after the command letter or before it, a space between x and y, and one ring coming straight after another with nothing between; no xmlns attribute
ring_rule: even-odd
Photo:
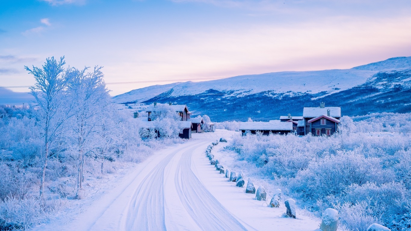
<svg viewBox="0 0 411 231"><path fill-rule="evenodd" d="M75 115L70 120L72 149L77 152L77 187L76 198L82 188L85 156L95 152L99 145L99 133L106 132L102 120L106 117L110 104L109 90L103 80L102 67L95 67L92 72L73 69L67 81L69 100L74 104ZM101 151L101 148L99 149Z"/></svg>

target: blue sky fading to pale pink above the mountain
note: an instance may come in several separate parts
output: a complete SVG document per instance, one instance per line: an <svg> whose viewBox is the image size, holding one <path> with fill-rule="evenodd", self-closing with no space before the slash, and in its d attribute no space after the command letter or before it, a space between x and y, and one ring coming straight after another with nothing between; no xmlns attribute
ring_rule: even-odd
<svg viewBox="0 0 411 231"><path fill-rule="evenodd" d="M408 0L2 0L0 85L31 85L24 65L62 55L104 66L106 82L351 68L410 56L410 9Z"/></svg>

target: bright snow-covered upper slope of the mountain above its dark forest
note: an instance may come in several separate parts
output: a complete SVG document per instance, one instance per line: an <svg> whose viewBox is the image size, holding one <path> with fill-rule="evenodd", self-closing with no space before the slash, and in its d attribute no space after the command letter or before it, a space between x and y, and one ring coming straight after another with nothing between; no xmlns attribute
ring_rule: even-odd
<svg viewBox="0 0 411 231"><path fill-rule="evenodd" d="M207 90L229 93L226 96L245 96L259 92L288 93L327 92L328 94L346 90L366 83L374 74L384 70L411 68L411 57L390 58L352 69L332 69L307 72L273 72L235 76L226 79L184 82L167 85L155 85L140 88L113 97L115 102L144 102L160 95L178 97L182 95L201 95Z"/></svg>

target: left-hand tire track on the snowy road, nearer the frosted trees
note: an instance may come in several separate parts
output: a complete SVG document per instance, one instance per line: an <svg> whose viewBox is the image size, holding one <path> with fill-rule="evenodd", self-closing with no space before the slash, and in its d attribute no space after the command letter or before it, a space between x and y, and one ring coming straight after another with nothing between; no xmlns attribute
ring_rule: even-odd
<svg viewBox="0 0 411 231"><path fill-rule="evenodd" d="M176 153L187 148L190 147L185 146L167 155L136 188L122 219L122 230L166 230L164 169Z"/></svg>

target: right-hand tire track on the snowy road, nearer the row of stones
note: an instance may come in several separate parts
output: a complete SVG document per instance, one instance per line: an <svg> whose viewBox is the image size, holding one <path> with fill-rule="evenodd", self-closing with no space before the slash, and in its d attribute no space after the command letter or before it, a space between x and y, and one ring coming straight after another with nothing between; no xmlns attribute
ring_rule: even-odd
<svg viewBox="0 0 411 231"><path fill-rule="evenodd" d="M180 201L202 230L247 230L212 196L192 171L191 157L195 148L185 151L177 166L175 187Z"/></svg>

